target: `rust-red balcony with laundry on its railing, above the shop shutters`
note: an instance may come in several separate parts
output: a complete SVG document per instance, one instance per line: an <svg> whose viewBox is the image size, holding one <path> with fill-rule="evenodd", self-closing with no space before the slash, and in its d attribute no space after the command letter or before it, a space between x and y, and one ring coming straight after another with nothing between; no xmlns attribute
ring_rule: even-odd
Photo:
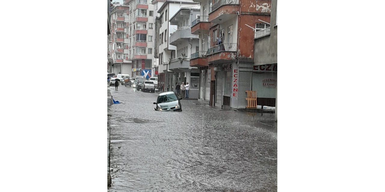
<svg viewBox="0 0 385 192"><path fill-rule="evenodd" d="M231 63L236 60L236 43L222 43L207 50L208 63L222 64Z"/></svg>

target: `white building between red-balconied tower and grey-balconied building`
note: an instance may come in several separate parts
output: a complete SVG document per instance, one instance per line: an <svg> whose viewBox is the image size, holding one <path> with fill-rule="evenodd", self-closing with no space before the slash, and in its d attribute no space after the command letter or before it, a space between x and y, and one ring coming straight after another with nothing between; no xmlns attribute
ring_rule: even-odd
<svg viewBox="0 0 385 192"><path fill-rule="evenodd" d="M153 0L156 16L155 25L155 51L159 59L158 82L160 91L173 90L175 87L175 75L169 69L170 61L176 58L176 46L171 45L169 41L170 31L176 31L177 25L171 25L169 18L174 16L179 9L189 5L196 5L192 0ZM179 79L179 77L178 77Z"/></svg>

